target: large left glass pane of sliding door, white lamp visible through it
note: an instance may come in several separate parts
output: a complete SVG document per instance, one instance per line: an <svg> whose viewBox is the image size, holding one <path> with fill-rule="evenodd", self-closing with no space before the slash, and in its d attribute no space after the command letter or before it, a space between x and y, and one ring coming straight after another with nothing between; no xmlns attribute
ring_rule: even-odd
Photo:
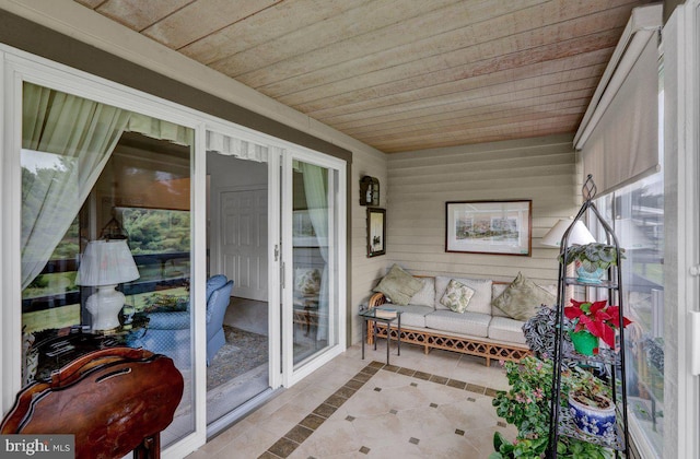
<svg viewBox="0 0 700 459"><path fill-rule="evenodd" d="M77 349L144 348L185 390L164 446L195 432L190 308L194 130L25 82L22 385Z"/></svg>

